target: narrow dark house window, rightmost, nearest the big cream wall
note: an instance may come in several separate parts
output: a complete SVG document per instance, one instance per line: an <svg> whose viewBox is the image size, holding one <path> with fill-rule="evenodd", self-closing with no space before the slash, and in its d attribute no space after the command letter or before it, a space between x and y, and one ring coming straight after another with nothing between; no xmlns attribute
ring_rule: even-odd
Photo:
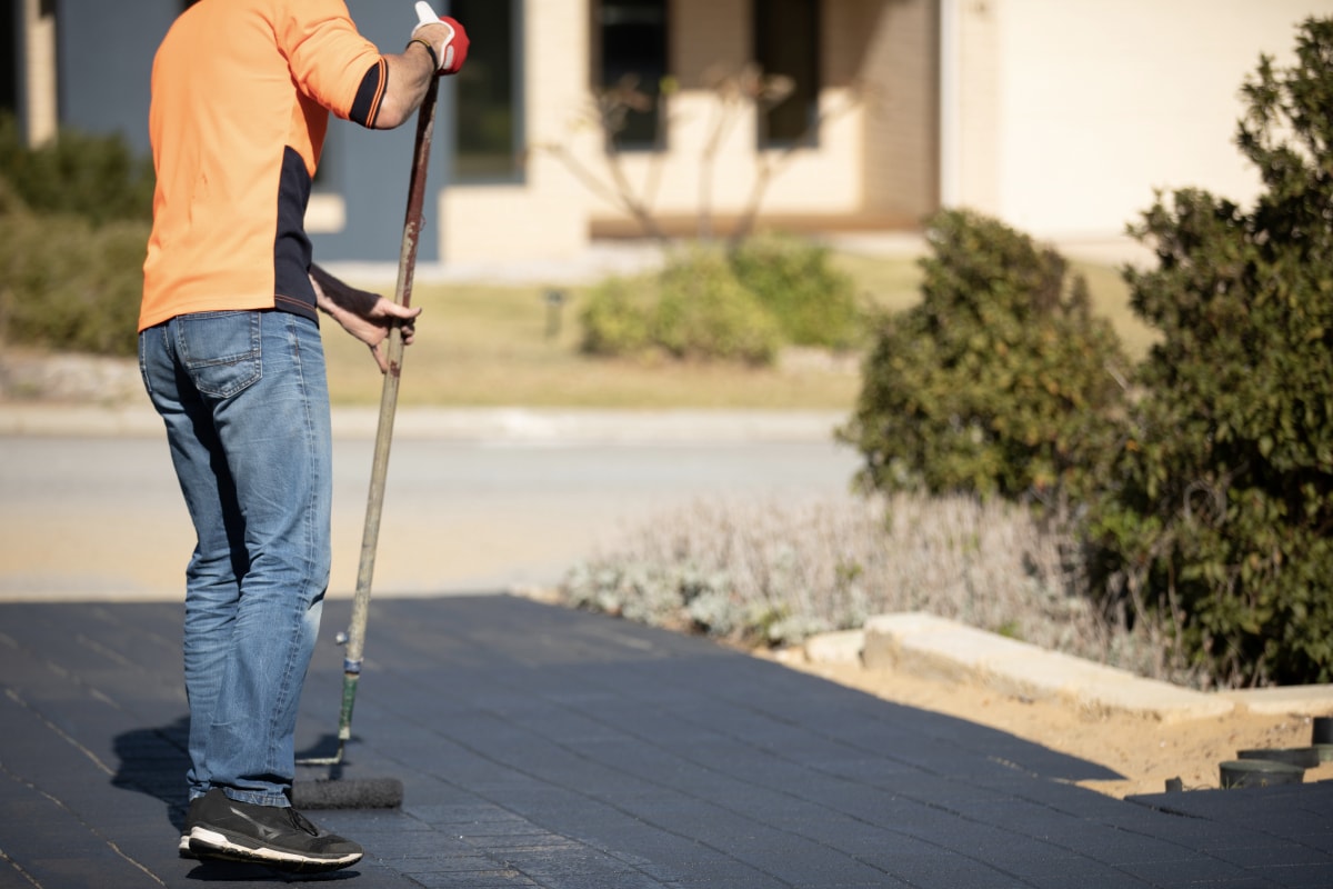
<svg viewBox="0 0 1333 889"><path fill-rule="evenodd" d="M820 100L820 0L754 0L754 60L792 80L792 95L760 115L761 147L814 139Z"/></svg>

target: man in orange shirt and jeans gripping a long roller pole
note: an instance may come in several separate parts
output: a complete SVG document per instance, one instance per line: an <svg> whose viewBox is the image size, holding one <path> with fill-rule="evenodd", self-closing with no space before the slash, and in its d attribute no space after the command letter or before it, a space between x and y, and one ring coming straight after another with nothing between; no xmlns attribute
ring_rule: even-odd
<svg viewBox="0 0 1333 889"><path fill-rule="evenodd" d="M433 13L403 53L381 55L343 0L201 0L153 60L140 368L199 538L185 593L183 854L288 870L361 857L289 804L329 574L316 309L369 345L381 371L389 329L411 341L419 309L312 268L303 220L329 113L399 127L467 49L461 25Z"/></svg>

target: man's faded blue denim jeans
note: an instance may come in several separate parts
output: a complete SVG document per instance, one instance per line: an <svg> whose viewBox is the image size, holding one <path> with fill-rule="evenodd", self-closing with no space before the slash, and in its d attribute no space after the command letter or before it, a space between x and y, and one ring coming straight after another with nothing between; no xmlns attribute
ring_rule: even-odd
<svg viewBox="0 0 1333 889"><path fill-rule="evenodd" d="M199 542L185 572L189 797L289 805L296 712L329 576L332 433L319 327L183 315L139 336Z"/></svg>

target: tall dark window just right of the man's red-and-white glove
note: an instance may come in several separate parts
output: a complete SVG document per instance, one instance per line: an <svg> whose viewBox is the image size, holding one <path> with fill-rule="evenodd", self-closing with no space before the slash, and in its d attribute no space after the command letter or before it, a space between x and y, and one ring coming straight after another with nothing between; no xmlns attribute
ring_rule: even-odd
<svg viewBox="0 0 1333 889"><path fill-rule="evenodd" d="M468 29L468 64L457 76L457 153L463 180L519 175L519 29L515 0L453 0L449 15Z"/></svg>

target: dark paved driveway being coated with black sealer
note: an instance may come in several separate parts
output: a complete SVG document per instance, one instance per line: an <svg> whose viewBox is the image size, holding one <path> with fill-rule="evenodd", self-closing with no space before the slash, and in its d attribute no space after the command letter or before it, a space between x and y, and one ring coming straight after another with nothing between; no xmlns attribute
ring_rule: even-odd
<svg viewBox="0 0 1333 889"><path fill-rule="evenodd" d="M0 605L0 889L293 880L176 857L179 604ZM331 602L300 744L336 729ZM1333 886L1333 782L1118 801L1101 766L708 641L508 596L381 600L356 886Z"/></svg>

